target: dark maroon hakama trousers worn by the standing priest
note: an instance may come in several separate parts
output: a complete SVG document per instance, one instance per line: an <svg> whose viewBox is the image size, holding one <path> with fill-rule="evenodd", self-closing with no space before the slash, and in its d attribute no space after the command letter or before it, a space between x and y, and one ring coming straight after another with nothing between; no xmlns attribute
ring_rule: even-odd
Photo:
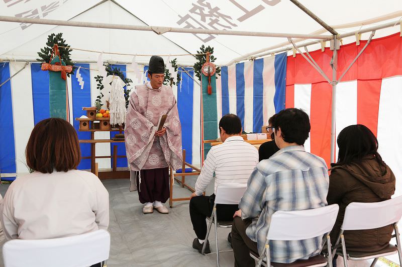
<svg viewBox="0 0 402 267"><path fill-rule="evenodd" d="M165 203L169 198L169 167L140 172L137 171L135 176L140 202L143 204L154 201Z"/></svg>

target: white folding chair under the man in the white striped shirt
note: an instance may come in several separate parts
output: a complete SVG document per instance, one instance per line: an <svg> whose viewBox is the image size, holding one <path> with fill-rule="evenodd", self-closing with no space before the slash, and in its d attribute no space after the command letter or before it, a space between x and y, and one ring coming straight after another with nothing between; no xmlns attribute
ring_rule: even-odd
<svg viewBox="0 0 402 267"><path fill-rule="evenodd" d="M212 210L211 217L207 217L210 220L210 224L208 225L207 237L211 232L212 224L215 224L215 237L216 237L216 248L217 248L217 265L219 267L219 252L228 252L233 251L225 250L219 251L218 248L218 228L231 228L233 224L233 219L230 221L219 221L217 219L217 204L239 204L240 199L242 198L244 192L246 191L247 184L245 183L224 183L217 187L217 193L215 195L215 203L214 208ZM204 250L206 247L207 241L204 242L203 250L201 251L203 255L205 255Z"/></svg>

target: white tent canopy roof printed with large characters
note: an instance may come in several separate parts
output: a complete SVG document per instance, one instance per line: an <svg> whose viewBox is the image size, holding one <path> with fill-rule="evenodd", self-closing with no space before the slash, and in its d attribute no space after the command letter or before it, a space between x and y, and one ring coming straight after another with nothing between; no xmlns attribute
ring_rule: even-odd
<svg viewBox="0 0 402 267"><path fill-rule="evenodd" d="M353 33L366 28L394 22L394 27L377 31L374 38L400 31L398 21L402 17L400 0L326 2L300 0L318 18L334 27L338 34ZM207 30L250 31L263 33L320 34L330 36L320 24L288 0L191 0L149 2L109 0L46 0L0 2L0 16L39 18L75 22L110 23L134 26L162 26L174 28L199 28ZM28 26L28 27L27 27ZM2 60L35 60L44 46L47 35L63 33L73 48L117 52L123 54L188 54L195 53L203 44L215 48L218 65L226 65L233 59L246 60L243 55L266 48L289 47L286 38L206 35L189 33L153 32L93 29L51 25L27 25L0 22L0 58ZM370 33L363 34L367 39ZM298 46L315 39L300 40ZM355 36L344 38L343 44L355 42ZM282 44L282 45L281 45ZM329 46L329 42L326 42ZM315 48L319 48L320 43ZM312 48L314 49L314 48ZM310 49L310 50L312 50ZM264 54L264 53L262 53ZM73 51L74 61L95 61L96 53ZM130 62L132 57L105 55L111 61ZM148 57L137 57L146 62ZM192 65L192 56L178 57L182 65Z"/></svg>

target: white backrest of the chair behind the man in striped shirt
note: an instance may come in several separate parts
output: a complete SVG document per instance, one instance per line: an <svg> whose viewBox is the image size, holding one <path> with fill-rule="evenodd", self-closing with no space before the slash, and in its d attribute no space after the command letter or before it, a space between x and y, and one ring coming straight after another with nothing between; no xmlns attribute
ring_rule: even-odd
<svg viewBox="0 0 402 267"><path fill-rule="evenodd" d="M247 184L245 183L223 183L218 185L215 195L216 204L239 204Z"/></svg>

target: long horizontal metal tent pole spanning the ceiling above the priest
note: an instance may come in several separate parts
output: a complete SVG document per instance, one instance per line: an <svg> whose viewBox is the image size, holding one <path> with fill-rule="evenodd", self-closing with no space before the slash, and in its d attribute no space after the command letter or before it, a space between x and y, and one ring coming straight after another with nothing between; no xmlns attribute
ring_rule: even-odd
<svg viewBox="0 0 402 267"><path fill-rule="evenodd" d="M61 21L61 20L47 20L47 19L34 19L34 18L18 18L18 17L9 17L9 16L0 16L0 21L1 22L28 23L28 24L45 24L45 25L70 26L70 27L84 27L84 28L148 31L148 32L154 32L158 35L169 32L169 33L188 33L188 34L305 38L305 39L323 39L323 40L330 38L330 36L328 36L328 35L207 30L207 29L174 28L174 27L163 27L163 26L137 26L137 25L111 24L111 23L93 23L93 22Z"/></svg>

